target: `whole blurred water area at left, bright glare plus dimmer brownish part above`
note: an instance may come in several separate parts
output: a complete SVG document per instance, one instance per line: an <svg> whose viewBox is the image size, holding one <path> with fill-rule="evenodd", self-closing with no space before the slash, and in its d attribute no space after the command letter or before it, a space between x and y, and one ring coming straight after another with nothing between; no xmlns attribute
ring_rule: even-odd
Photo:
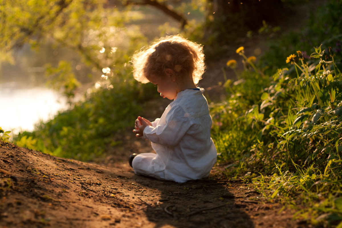
<svg viewBox="0 0 342 228"><path fill-rule="evenodd" d="M46 63L57 66L66 55L74 67L79 66L78 56L67 50L42 47L35 52L29 46L15 53L15 65L0 63L0 127L4 131L32 131L35 123L47 121L68 108L60 93L45 86L43 68ZM78 70L79 75L85 76L84 83L89 80L88 70Z"/></svg>

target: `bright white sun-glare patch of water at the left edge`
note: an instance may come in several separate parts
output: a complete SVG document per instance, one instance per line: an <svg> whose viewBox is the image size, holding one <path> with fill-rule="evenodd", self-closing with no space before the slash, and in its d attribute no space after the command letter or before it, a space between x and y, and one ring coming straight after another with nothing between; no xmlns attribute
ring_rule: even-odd
<svg viewBox="0 0 342 228"><path fill-rule="evenodd" d="M66 100L57 92L38 86L17 88L16 82L0 84L0 98L0 126L14 134L32 131L35 123L67 108Z"/></svg>

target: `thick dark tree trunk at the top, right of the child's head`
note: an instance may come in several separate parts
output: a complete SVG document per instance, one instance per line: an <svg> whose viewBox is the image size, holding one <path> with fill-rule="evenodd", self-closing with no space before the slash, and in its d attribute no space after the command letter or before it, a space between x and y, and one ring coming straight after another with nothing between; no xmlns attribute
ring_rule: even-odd
<svg viewBox="0 0 342 228"><path fill-rule="evenodd" d="M283 9L281 0L208 0L205 40L230 42L234 36L258 30L263 21L274 25Z"/></svg>

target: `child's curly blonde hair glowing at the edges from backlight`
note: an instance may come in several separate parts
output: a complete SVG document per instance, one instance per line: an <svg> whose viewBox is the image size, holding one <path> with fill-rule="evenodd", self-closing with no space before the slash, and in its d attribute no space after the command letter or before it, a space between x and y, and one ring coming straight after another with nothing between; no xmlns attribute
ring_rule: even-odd
<svg viewBox="0 0 342 228"><path fill-rule="evenodd" d="M148 49L132 56L133 77L141 83L147 78L163 77L167 68L177 77L191 77L195 84L205 71L203 47L180 35L166 36L154 42Z"/></svg>

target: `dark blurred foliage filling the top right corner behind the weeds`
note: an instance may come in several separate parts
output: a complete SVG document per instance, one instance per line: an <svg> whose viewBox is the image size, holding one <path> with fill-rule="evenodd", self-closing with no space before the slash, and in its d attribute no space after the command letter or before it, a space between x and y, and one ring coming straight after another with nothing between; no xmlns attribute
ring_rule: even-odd
<svg viewBox="0 0 342 228"><path fill-rule="evenodd" d="M310 11L307 25L300 32L291 31L287 35L281 35L277 39L270 40L269 50L263 55L261 67L268 67L271 72L278 67L285 67L284 59L293 50L300 50L308 60L310 53L314 51L313 46L322 45L328 51L331 47L336 64L341 66L342 58L342 1L330 0L317 11ZM310 61L309 61L310 62Z"/></svg>

